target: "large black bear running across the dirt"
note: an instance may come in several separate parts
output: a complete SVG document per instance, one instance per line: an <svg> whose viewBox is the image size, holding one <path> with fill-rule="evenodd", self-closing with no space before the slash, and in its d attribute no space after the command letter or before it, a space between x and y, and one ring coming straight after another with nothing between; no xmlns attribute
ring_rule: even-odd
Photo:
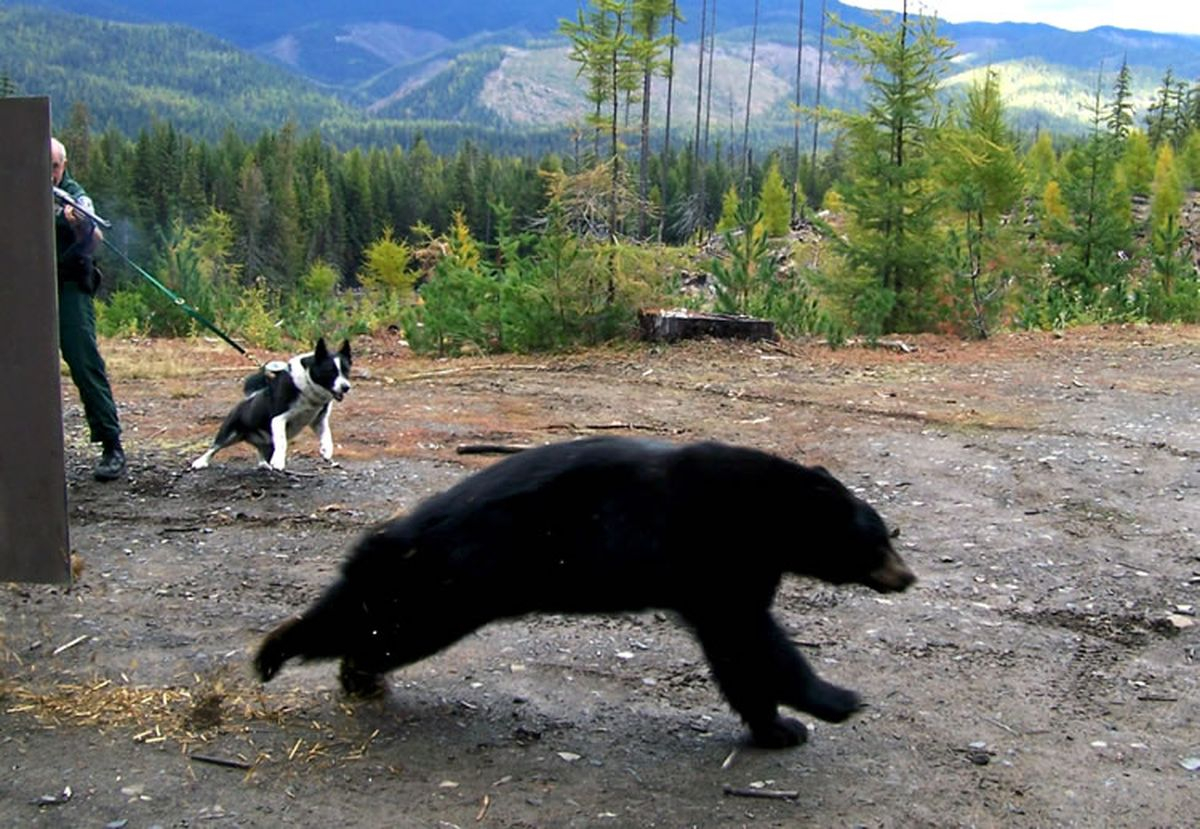
<svg viewBox="0 0 1200 829"><path fill-rule="evenodd" d="M821 467L718 443L593 438L530 449L367 530L342 575L254 659L341 657L342 687L496 619L664 608L695 631L754 741L804 741L779 705L840 722L858 695L824 681L772 618L781 576L904 590L916 577L878 513Z"/></svg>

